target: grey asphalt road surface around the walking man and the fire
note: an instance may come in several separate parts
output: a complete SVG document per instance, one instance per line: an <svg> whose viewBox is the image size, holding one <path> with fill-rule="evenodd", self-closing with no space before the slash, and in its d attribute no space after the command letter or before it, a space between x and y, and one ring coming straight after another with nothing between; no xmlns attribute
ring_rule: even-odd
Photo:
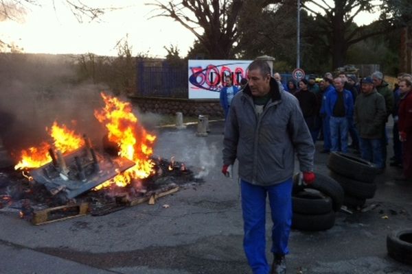
<svg viewBox="0 0 412 274"><path fill-rule="evenodd" d="M242 250L238 183L220 173L223 124L211 123L210 129L207 137L196 136L195 126L158 129L155 154L185 162L204 182L154 206L39 226L16 212L0 212L0 273L251 273ZM316 154L317 172L328 174L327 158ZM367 206L377 205L373 210L338 212L325 232L293 230L288 273L412 273L386 249L389 232L412 224L412 184L396 183L398 173L388 166L378 177L376 195L367 200ZM269 242L269 215L267 220Z"/></svg>

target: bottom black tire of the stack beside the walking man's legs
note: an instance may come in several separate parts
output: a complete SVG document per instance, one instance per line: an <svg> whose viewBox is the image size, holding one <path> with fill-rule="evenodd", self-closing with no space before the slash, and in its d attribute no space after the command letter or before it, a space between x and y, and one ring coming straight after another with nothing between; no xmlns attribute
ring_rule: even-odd
<svg viewBox="0 0 412 274"><path fill-rule="evenodd" d="M293 213L292 228L305 231L321 231L334 226L335 212L326 214L300 214Z"/></svg>

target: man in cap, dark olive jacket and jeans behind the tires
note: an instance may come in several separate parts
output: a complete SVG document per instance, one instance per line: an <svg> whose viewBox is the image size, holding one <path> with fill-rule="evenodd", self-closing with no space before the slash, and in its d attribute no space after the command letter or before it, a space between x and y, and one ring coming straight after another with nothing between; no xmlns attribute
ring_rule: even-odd
<svg viewBox="0 0 412 274"><path fill-rule="evenodd" d="M385 167L382 138L386 120L385 98L376 91L371 77L363 78L362 93L356 98L354 121L361 137L361 157L376 164L380 171Z"/></svg>

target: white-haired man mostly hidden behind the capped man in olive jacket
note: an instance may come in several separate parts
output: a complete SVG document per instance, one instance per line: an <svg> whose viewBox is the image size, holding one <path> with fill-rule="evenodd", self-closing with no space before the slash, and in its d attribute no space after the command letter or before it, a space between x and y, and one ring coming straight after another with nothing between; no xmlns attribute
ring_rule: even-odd
<svg viewBox="0 0 412 274"><path fill-rule="evenodd" d="M385 98L385 108L386 108L386 116L387 116L385 123L387 123L388 117L392 113L393 105L394 105L393 92L389 88L389 84L385 82L385 80L383 79L383 73L381 73L380 71L375 71L374 73L372 73L371 78L372 78L372 81L374 82L374 86L376 90L378 91L378 93L382 95L383 98ZM385 167L386 160L387 160L388 136L387 136L386 128L384 130L385 130L385 134L383 135L383 138L382 138L382 156L383 156L383 163Z"/></svg>

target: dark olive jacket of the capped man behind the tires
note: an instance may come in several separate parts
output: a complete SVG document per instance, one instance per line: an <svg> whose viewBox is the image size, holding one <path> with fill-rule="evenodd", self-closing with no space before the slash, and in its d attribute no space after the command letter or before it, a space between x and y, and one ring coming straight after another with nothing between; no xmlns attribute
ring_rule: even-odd
<svg viewBox="0 0 412 274"><path fill-rule="evenodd" d="M354 121L359 136L365 139L383 137L386 117L385 99L374 89L371 93L361 93L355 103Z"/></svg>

